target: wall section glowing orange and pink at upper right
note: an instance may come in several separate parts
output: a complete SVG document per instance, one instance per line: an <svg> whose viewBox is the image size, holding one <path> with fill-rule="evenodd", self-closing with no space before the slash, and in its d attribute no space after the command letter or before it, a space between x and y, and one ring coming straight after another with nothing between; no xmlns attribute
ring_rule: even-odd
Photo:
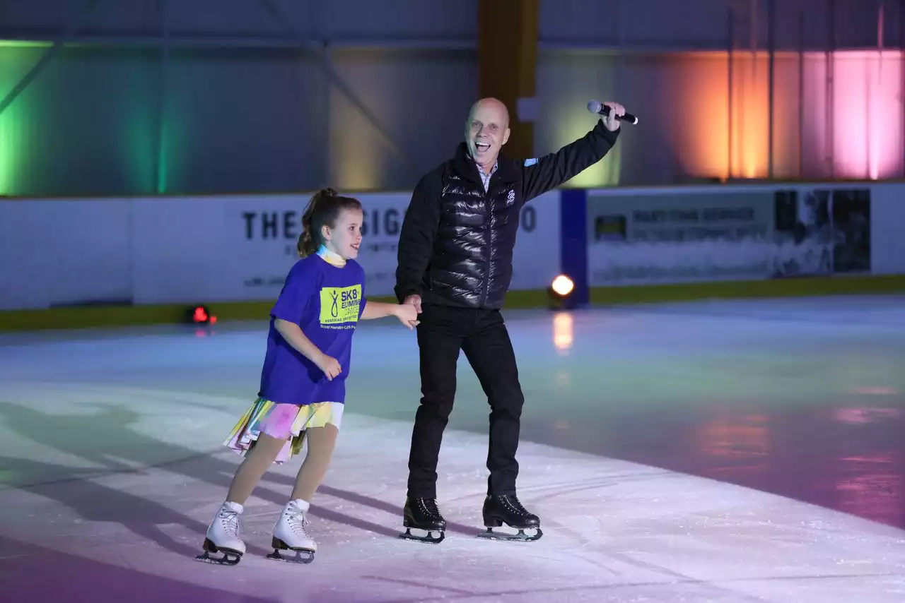
<svg viewBox="0 0 905 603"><path fill-rule="evenodd" d="M824 53L802 57L778 52L774 64L775 176L881 179L903 175L900 52L834 52L829 101ZM681 55L674 69L673 144L684 172L767 178L767 52L733 54L731 94L727 52ZM799 108L804 109L800 135Z"/></svg>

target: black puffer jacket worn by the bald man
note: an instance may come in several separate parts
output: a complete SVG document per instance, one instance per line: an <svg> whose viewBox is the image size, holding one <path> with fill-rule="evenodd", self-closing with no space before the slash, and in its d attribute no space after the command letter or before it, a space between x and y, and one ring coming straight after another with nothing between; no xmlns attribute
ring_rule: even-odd
<svg viewBox="0 0 905 603"><path fill-rule="evenodd" d="M502 307L522 206L600 161L618 134L598 121L585 137L557 153L524 162L500 154L486 192L461 143L451 160L414 189L399 237L396 297L400 302L420 295L424 304Z"/></svg>

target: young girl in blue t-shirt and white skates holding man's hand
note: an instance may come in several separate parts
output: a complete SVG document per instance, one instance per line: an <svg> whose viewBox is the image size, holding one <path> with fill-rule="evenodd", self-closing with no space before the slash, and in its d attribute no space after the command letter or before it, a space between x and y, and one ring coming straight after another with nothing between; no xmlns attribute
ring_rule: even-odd
<svg viewBox="0 0 905 603"><path fill-rule="evenodd" d="M301 218L300 259L271 310L261 391L224 444L244 456L197 559L238 563L245 552L243 504L272 463L308 440L308 454L273 528L272 559L310 562L318 545L307 531L311 498L327 473L346 400L357 321L395 316L410 329L414 306L365 301L365 272L354 260L364 215L356 199L332 189L315 194ZM294 559L281 550L297 551ZM208 553L222 552L214 559ZM301 553L305 553L302 555Z"/></svg>

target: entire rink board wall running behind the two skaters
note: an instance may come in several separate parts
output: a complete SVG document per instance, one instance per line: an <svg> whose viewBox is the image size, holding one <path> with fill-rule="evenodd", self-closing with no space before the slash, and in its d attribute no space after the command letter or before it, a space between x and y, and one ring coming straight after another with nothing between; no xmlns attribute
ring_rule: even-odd
<svg viewBox="0 0 905 603"><path fill-rule="evenodd" d="M367 295L392 296L411 193L358 196L366 211L359 261ZM554 191L522 212L511 298L537 304L542 296L521 294L542 291L559 272L576 280L580 299L592 301L631 301L651 287L707 297L720 284L782 295L780 281L819 293L814 283L826 278L870 288L884 275L905 274L903 196L903 184L861 183ZM308 198L0 201L0 310L266 308L298 259Z"/></svg>

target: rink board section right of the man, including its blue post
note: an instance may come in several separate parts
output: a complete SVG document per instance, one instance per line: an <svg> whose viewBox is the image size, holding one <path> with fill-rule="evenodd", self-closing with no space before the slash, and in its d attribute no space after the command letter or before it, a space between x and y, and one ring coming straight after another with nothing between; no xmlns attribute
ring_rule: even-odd
<svg viewBox="0 0 905 603"><path fill-rule="evenodd" d="M564 195L564 212L570 206L564 250L571 250L564 268L574 267L584 279L580 291L598 294L592 301L624 287L667 286L695 297L695 290L737 283L766 294L807 294L809 283L821 278L871 287L870 277L905 274L903 184L608 188Z"/></svg>

